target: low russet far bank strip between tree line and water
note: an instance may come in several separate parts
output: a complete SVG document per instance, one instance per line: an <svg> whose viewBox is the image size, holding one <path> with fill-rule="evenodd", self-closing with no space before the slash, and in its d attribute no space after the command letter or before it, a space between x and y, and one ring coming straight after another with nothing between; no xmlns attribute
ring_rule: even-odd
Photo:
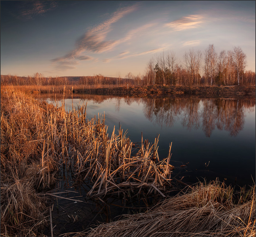
<svg viewBox="0 0 256 237"><path fill-rule="evenodd" d="M101 87L86 85L67 86L4 86L4 90L10 92L24 92L26 94L95 94L129 97L159 97L169 95L200 95L204 97L232 97L254 96L255 86L134 86L134 87Z"/></svg>

